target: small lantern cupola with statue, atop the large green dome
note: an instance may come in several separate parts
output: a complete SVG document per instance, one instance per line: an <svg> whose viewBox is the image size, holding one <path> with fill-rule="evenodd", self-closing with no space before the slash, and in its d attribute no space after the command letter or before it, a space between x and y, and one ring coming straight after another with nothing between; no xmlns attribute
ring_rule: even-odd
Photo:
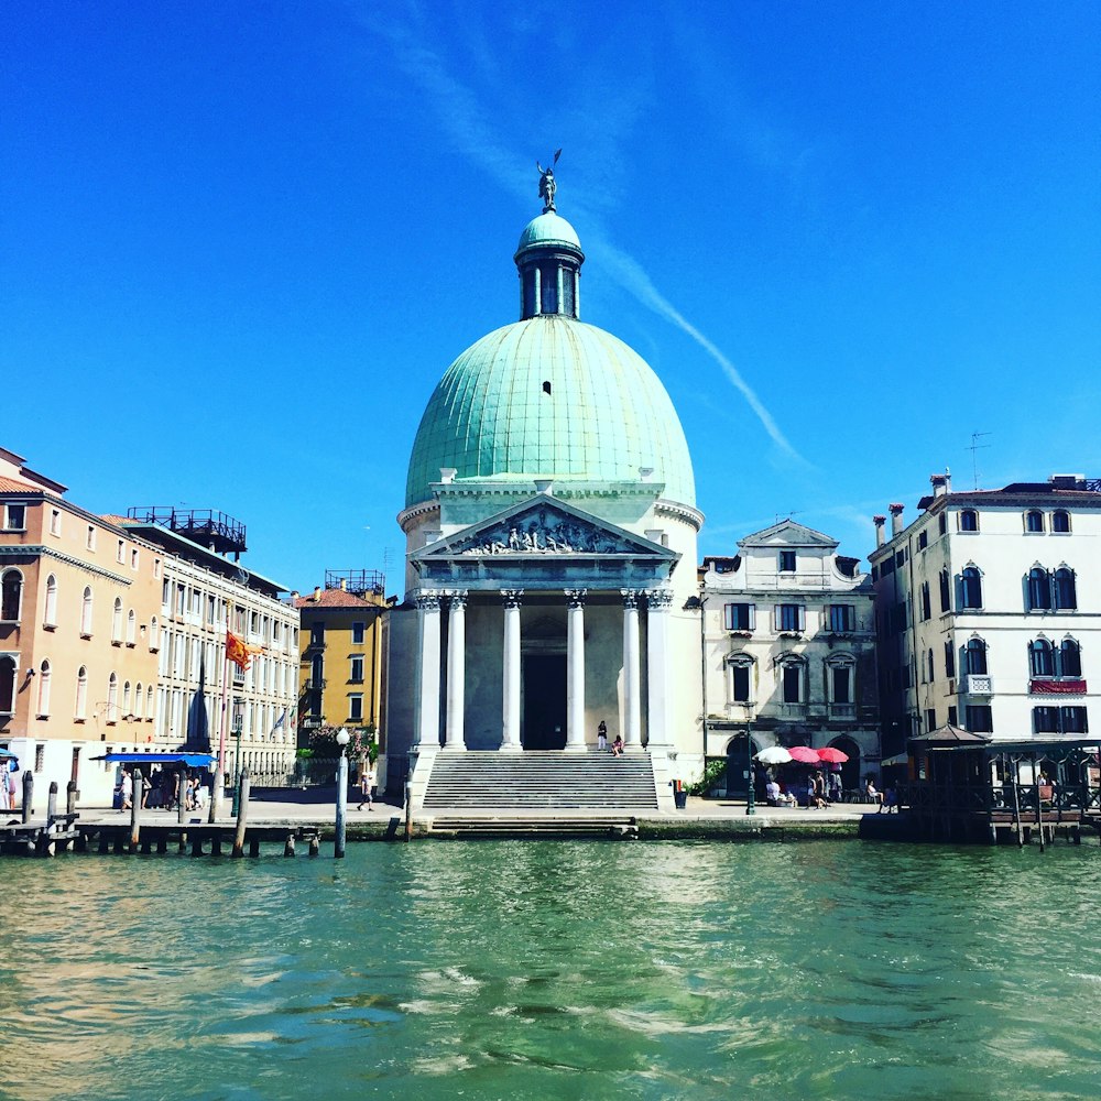
<svg viewBox="0 0 1101 1101"><path fill-rule="evenodd" d="M557 163L555 153L554 163ZM520 270L520 319L558 315L580 317L580 280L585 253L574 227L555 210L554 167L539 170L543 214L520 235L513 259Z"/></svg>

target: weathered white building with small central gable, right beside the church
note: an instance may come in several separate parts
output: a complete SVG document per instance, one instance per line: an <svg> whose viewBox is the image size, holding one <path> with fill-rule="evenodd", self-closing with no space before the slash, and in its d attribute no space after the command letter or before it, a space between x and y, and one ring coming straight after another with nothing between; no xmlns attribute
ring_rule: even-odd
<svg viewBox="0 0 1101 1101"><path fill-rule="evenodd" d="M880 756L871 578L836 539L792 520L701 571L707 755L744 791L748 751L835 745L844 786Z"/></svg>

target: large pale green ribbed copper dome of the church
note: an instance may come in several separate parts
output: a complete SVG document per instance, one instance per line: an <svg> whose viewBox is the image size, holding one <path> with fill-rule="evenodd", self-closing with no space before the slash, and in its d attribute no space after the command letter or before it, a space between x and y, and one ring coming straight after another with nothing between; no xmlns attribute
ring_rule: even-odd
<svg viewBox="0 0 1101 1101"><path fill-rule="evenodd" d="M547 218L568 226L556 215L532 225ZM657 375L610 333L558 313L490 333L447 369L417 429L406 508L430 500L447 467L456 481L528 482L637 481L650 467L665 499L696 503L688 444Z"/></svg>

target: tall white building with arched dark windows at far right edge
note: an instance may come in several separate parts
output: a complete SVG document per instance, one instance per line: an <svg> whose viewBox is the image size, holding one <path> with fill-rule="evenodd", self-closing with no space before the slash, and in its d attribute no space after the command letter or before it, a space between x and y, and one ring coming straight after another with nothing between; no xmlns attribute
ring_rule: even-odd
<svg viewBox="0 0 1101 1101"><path fill-rule="evenodd" d="M1055 475L952 492L948 476L931 481L908 525L901 504L890 537L875 517L884 753L945 723L995 742L1080 739L1101 653L1101 482Z"/></svg>

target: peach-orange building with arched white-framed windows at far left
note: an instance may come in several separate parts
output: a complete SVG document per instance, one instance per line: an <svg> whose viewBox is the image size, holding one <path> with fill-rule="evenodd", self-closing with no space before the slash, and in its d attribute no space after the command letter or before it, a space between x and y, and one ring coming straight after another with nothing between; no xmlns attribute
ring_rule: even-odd
<svg viewBox="0 0 1101 1101"><path fill-rule="evenodd" d="M113 768L89 757L155 741L164 557L64 494L0 448L0 748L43 799L69 780L102 799Z"/></svg>

